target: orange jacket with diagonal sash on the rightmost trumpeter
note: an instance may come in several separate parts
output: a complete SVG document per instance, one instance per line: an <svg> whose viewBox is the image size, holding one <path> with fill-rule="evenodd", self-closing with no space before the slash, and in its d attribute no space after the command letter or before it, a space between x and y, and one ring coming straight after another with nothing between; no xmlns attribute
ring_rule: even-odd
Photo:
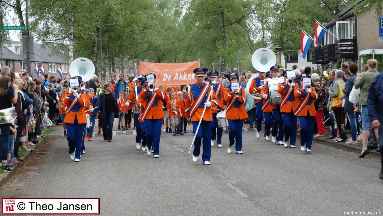
<svg viewBox="0 0 383 216"><path fill-rule="evenodd" d="M304 91L303 88L296 88L294 92L298 107L295 110L296 116L307 116L307 113L310 113L310 116L315 116L315 106L314 100L318 99L318 95L314 88L311 89L311 92L308 94ZM306 97L307 96L307 97Z"/></svg>

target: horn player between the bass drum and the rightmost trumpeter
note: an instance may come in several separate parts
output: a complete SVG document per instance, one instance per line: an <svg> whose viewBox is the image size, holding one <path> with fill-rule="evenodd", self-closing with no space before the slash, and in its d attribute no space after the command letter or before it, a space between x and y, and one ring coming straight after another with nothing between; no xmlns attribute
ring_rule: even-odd
<svg viewBox="0 0 383 216"><path fill-rule="evenodd" d="M287 71L283 71L282 76L285 78L285 82L278 85L278 93L281 95L281 112L285 125L283 131L285 132L285 142L283 146L285 148L295 148L296 140L296 115L294 115L296 109L295 89L298 88L298 83L294 82L294 79L287 79ZM290 84L289 84L290 81Z"/></svg>

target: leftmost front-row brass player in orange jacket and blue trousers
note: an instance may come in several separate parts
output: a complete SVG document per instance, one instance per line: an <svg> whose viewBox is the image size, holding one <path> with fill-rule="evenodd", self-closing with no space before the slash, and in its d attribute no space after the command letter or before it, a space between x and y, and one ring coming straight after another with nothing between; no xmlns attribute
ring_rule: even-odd
<svg viewBox="0 0 383 216"><path fill-rule="evenodd" d="M72 77L72 79L78 79L79 84L82 80L80 76ZM78 90L79 89L80 87L78 87ZM67 140L70 159L75 162L79 162L80 155L83 150L82 141L85 138L85 126L87 124L85 110L89 109L89 112L93 112L93 107L90 103L88 103L88 99L85 94L73 91L73 86L70 87L69 93L65 96L64 106L68 107L64 123L68 132Z"/></svg>

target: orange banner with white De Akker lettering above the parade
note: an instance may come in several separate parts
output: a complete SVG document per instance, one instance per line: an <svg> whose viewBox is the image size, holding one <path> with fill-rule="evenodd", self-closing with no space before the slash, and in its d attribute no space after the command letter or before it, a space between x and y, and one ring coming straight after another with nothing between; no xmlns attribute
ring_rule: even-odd
<svg viewBox="0 0 383 216"><path fill-rule="evenodd" d="M194 69L200 61L188 63L151 63L140 61L140 74L154 73L156 86L187 85L195 82Z"/></svg>

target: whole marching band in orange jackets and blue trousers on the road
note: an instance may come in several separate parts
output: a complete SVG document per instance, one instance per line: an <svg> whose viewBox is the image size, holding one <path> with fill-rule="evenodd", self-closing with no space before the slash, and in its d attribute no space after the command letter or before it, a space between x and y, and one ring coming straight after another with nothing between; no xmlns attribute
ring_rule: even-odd
<svg viewBox="0 0 383 216"><path fill-rule="evenodd" d="M165 119L164 107L168 108L167 115L172 117L169 118L172 126L169 131L173 131L173 136L176 133L183 135L182 131L187 132L183 126L183 120L178 122L178 118L185 118L185 121L187 119L191 122L194 134L193 162L198 162L202 145L203 165L211 164L211 147L214 145L223 147L223 129L227 129L229 134L228 153L232 153L235 145L235 153L243 154L242 128L244 120L248 117L245 108L247 96L254 98L257 110L255 134L257 139L260 138L263 120L265 140L270 140L270 130L272 130L272 143L284 145L286 148L295 148L299 120L301 151L311 152L316 115L313 102L318 96L314 87L311 86L311 81L308 81L310 76L302 74L299 77L300 83L296 83L294 82L295 74L291 75L294 73L292 71L285 70L279 77L279 66L273 65L268 71L256 69L259 73L247 81L246 88L239 85L237 73L229 74L230 85L225 88L223 84L218 83L217 71L209 72L207 68L196 68L193 71L196 83L188 86L187 91L182 91L179 86L172 86L175 91L170 94L171 98L167 98L165 92L155 86L154 73L139 75L132 81L134 83L126 95L126 102L123 96L116 99L115 95L111 94L108 90L111 84L108 82L103 86L106 91L98 93L97 96L96 89L90 88L87 91L82 77L74 73L77 76L72 77L68 88L63 87L63 94L59 98L70 159L75 162L80 161L80 157L85 153L85 132L87 132L88 140L93 140L93 125L99 115L105 117L106 109L113 109L113 112L108 113L115 117L114 109L119 109L120 113L121 110L125 110L122 111L125 113L128 107L131 107L134 116L137 132L136 148L146 151L149 156L153 153L154 158L159 158L162 122ZM73 84L72 80L77 81L78 85ZM121 95L123 93L119 92ZM106 96L107 94L110 96ZM105 103L108 103L109 99L114 99L115 102L106 106ZM163 104L163 101L167 101L167 104ZM110 142L111 126L108 125L107 119L103 121L105 121L103 125L108 127L108 130L103 129L104 139Z"/></svg>

